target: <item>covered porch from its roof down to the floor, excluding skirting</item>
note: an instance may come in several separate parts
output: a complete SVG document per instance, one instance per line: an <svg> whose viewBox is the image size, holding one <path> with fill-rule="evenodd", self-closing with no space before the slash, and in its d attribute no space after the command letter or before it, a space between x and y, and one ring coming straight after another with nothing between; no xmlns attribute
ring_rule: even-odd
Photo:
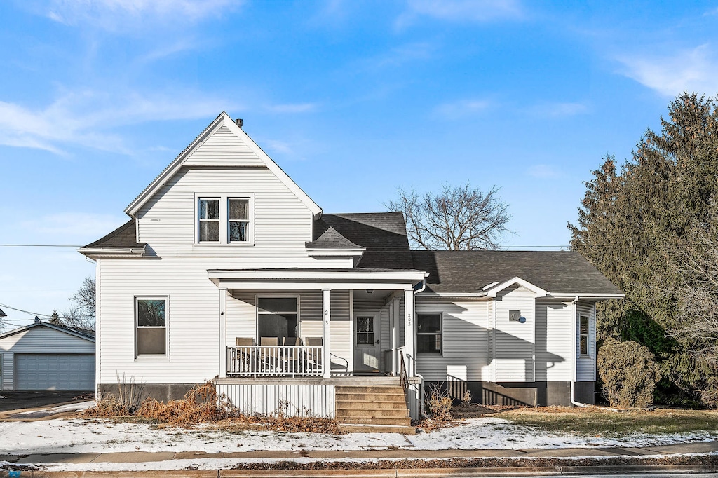
<svg viewBox="0 0 718 478"><path fill-rule="evenodd" d="M414 375L420 271L210 270L219 291L219 378Z"/></svg>

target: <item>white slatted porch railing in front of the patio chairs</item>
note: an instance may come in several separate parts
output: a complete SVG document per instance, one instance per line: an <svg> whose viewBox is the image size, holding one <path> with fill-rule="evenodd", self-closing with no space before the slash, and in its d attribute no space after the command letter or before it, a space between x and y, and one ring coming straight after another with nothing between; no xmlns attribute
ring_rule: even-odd
<svg viewBox="0 0 718 478"><path fill-rule="evenodd" d="M233 377L321 377L324 347L240 345L227 347L227 375Z"/></svg>

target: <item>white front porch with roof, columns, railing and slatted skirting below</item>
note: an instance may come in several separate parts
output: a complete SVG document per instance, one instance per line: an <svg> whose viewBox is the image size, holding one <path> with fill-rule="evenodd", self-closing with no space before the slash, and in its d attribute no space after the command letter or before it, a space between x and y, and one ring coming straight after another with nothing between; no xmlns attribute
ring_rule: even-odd
<svg viewBox="0 0 718 478"><path fill-rule="evenodd" d="M409 380L416 375L414 291L424 273L267 269L208 274L220 292L218 392L236 406L251 413L284 407L292 415L335 418L337 384L388 380L406 390L411 416L418 417L420 387L405 385L416 381Z"/></svg>

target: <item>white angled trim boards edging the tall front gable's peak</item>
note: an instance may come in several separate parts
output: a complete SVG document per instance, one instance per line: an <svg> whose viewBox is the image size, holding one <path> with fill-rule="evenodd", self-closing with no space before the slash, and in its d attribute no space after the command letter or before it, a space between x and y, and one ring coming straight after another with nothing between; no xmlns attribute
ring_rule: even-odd
<svg viewBox="0 0 718 478"><path fill-rule="evenodd" d="M286 172L284 172L283 169L281 169L272 159L262 150L252 139L248 136L247 133L243 131L242 128L240 128L237 123L233 121L232 118L229 117L227 113L224 111L220 113L220 116L215 118L215 120L210 123L210 125L205 128L205 131L202 131L197 138L195 138L195 141L192 141L190 146L187 146L185 148L185 151L182 151L177 158L174 159L164 170L159 173L159 176L157 176L154 181L152 181L145 189L142 191L139 196L135 198L134 201L132 201L129 206L125 208L125 213L131 217L135 217L136 213L141 209L142 206L146 204L147 201L150 200L152 196L154 196L155 193L159 191L159 189L162 188L164 184L166 184L169 179L171 179L177 171L180 170L183 164L190 159L192 156L192 153L197 151L202 144L205 143L208 139L210 139L213 134L218 131L220 128L226 128L229 133L233 133L234 136L238 137L238 139L241 140L241 142L246 146L251 153L253 154L253 165L264 165L266 166L271 172L274 173L274 175L284 183L286 187L288 187L294 195L296 195L300 201L304 203L305 206L309 209L309 211L312 212L312 215L314 215L315 218L321 217L322 215L322 208L319 207L314 201L312 201L312 198L310 198L306 192L302 190L299 186L297 186L297 183L292 181L292 178L289 177ZM225 164L226 166L226 164Z"/></svg>

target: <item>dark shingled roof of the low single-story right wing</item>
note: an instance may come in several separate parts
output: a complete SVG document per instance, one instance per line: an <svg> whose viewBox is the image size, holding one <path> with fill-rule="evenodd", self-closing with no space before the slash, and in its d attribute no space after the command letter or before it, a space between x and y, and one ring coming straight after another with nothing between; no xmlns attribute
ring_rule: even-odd
<svg viewBox="0 0 718 478"><path fill-rule="evenodd" d="M520 277L554 293L621 293L573 251L412 250L411 257L413 268L429 273L429 292L481 292L490 283Z"/></svg>

